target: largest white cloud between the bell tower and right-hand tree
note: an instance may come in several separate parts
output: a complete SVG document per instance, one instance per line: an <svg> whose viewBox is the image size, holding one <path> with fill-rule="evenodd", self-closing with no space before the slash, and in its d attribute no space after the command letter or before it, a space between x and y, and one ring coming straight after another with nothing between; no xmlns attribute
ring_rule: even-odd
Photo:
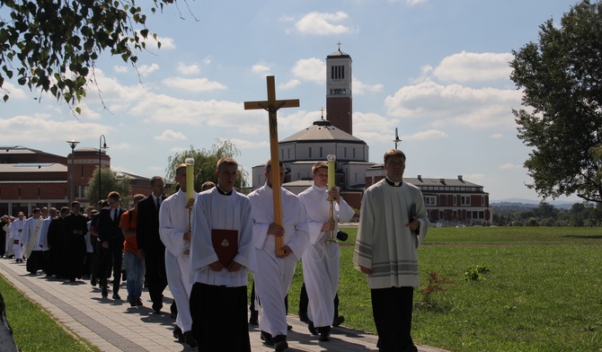
<svg viewBox="0 0 602 352"><path fill-rule="evenodd" d="M409 85L385 99L387 113L403 119L429 119L431 126L515 128L512 106L519 106L521 92L494 88L475 89L459 84L426 81Z"/></svg>

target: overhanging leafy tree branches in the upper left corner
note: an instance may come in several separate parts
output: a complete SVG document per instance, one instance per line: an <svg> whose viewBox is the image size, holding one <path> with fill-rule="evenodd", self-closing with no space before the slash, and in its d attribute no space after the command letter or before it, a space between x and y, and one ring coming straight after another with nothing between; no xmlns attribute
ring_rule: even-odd
<svg viewBox="0 0 602 352"><path fill-rule="evenodd" d="M145 13L175 1L153 0L143 10L134 0L0 0L0 88L15 77L73 106L103 51L136 66L145 40L156 40Z"/></svg>

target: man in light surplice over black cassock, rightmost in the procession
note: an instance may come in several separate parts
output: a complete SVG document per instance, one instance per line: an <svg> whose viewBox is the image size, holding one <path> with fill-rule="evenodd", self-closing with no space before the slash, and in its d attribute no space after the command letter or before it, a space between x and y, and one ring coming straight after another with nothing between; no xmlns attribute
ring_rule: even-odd
<svg viewBox="0 0 602 352"><path fill-rule="evenodd" d="M366 274L382 351L415 352L413 287L419 286L418 245L429 230L421 190L403 182L405 154L385 153L386 178L364 192L353 262Z"/></svg>

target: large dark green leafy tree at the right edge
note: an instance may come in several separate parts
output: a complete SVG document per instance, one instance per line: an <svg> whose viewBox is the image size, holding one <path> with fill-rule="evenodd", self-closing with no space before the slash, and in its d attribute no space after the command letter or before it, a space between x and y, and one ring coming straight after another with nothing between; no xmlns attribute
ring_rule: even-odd
<svg viewBox="0 0 602 352"><path fill-rule="evenodd" d="M513 50L510 78L525 109L513 110L518 137L532 147L524 163L543 198L577 194L602 201L602 3L583 0L539 26L539 41Z"/></svg>

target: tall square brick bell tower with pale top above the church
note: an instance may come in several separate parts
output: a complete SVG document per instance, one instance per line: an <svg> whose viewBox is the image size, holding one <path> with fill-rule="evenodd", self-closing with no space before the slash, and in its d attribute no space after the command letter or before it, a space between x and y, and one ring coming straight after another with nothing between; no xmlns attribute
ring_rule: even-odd
<svg viewBox="0 0 602 352"><path fill-rule="evenodd" d="M326 57L326 119L353 135L351 57L339 49Z"/></svg>

